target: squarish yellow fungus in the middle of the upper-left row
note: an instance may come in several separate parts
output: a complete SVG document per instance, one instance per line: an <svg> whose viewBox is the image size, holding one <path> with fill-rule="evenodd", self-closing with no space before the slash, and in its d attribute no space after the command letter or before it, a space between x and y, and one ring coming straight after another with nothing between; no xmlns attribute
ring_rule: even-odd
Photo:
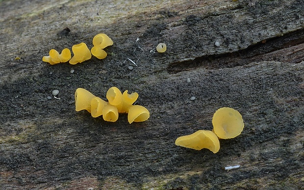
<svg viewBox="0 0 304 190"><path fill-rule="evenodd" d="M76 44L72 47L74 57L70 59L69 63L75 65L77 63L84 62L88 59L91 59L91 51L85 43Z"/></svg>

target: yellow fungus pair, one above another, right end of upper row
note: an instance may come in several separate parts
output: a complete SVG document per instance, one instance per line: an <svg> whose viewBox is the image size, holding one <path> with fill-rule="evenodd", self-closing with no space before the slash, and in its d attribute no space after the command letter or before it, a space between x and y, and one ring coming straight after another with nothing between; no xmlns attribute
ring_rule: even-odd
<svg viewBox="0 0 304 190"><path fill-rule="evenodd" d="M103 48L112 46L113 41L106 34L97 34L93 38L93 48L91 48L91 53L98 59L104 59L106 57L106 52Z"/></svg>

